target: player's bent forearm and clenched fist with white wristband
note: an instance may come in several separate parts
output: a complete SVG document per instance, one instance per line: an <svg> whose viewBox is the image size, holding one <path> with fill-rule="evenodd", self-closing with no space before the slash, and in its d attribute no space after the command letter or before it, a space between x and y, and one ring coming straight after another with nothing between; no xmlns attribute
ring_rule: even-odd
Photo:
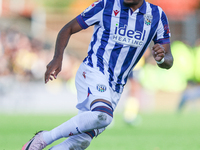
<svg viewBox="0 0 200 150"><path fill-rule="evenodd" d="M173 56L170 44L155 44L152 47L152 55L161 68L170 69L173 65Z"/></svg>

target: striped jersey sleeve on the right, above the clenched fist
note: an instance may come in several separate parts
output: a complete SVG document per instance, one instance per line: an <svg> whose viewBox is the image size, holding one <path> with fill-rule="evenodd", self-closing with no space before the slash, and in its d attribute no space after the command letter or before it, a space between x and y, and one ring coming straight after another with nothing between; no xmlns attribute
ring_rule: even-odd
<svg viewBox="0 0 200 150"><path fill-rule="evenodd" d="M153 39L154 43L167 44L170 43L170 29L166 14L162 11L161 19L158 24L156 35Z"/></svg>

